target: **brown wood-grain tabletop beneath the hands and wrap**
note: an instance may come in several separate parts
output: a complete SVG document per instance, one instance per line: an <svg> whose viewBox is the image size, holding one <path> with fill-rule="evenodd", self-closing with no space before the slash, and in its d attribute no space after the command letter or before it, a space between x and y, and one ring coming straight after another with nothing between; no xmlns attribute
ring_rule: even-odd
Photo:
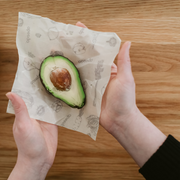
<svg viewBox="0 0 180 180"><path fill-rule="evenodd" d="M18 12L55 21L85 23L90 29L116 32L130 40L132 70L140 110L168 135L180 140L180 1L0 0L0 180L7 179L17 157L7 98L18 64ZM47 178L144 179L138 166L102 127L97 141L59 127L59 145Z"/></svg>

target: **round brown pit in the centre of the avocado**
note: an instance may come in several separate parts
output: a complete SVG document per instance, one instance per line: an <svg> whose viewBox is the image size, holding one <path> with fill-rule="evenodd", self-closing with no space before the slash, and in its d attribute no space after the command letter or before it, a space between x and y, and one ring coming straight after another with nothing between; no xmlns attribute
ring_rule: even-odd
<svg viewBox="0 0 180 180"><path fill-rule="evenodd" d="M56 68L50 73L50 80L56 89L60 91L68 91L71 86L71 75L65 68Z"/></svg>

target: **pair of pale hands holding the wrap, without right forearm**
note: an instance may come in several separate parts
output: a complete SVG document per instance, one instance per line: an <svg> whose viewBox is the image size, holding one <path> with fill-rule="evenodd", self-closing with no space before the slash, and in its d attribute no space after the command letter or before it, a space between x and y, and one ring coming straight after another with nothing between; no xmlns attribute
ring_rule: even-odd
<svg viewBox="0 0 180 180"><path fill-rule="evenodd" d="M79 27L87 28L78 22ZM137 110L135 83L129 57L130 42L123 44L117 57L117 66L113 63L111 77L102 99L100 124L108 132L126 128L128 117ZM29 117L24 101L14 93L7 93L15 110L13 135L18 148L18 159L14 169L42 173L42 179L52 166L58 142L58 127L37 121ZM14 170L15 171L15 170ZM14 173L14 174L13 174ZM14 179L12 172L9 179ZM20 177L19 177L20 178Z"/></svg>

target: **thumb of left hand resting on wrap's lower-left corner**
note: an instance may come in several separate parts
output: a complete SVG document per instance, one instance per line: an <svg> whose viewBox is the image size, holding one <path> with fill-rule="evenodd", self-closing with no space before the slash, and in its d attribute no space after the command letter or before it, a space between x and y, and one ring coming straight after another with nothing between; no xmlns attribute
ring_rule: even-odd
<svg viewBox="0 0 180 180"><path fill-rule="evenodd" d="M18 122L30 121L29 113L24 101L15 93L9 92L6 94L14 107L16 120Z"/></svg>

